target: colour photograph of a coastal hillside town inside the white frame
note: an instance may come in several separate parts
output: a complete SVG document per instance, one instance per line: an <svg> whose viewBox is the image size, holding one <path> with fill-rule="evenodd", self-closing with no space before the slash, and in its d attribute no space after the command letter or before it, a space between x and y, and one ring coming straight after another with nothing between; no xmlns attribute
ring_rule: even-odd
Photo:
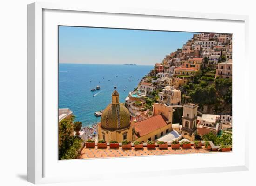
<svg viewBox="0 0 256 186"><path fill-rule="evenodd" d="M232 153L232 34L58 26L58 160Z"/></svg>

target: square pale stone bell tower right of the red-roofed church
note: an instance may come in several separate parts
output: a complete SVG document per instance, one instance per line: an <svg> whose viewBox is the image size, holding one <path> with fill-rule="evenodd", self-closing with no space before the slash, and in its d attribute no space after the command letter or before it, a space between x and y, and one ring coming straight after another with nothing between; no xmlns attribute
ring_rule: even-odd
<svg viewBox="0 0 256 186"><path fill-rule="evenodd" d="M184 104L182 116L182 137L194 141L197 124L197 104Z"/></svg>

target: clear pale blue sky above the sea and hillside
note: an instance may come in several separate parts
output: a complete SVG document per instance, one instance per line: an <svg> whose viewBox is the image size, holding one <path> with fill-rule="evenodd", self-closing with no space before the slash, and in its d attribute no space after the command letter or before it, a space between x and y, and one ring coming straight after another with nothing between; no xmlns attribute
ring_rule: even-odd
<svg viewBox="0 0 256 186"><path fill-rule="evenodd" d="M59 63L153 65L193 34L60 26Z"/></svg>

